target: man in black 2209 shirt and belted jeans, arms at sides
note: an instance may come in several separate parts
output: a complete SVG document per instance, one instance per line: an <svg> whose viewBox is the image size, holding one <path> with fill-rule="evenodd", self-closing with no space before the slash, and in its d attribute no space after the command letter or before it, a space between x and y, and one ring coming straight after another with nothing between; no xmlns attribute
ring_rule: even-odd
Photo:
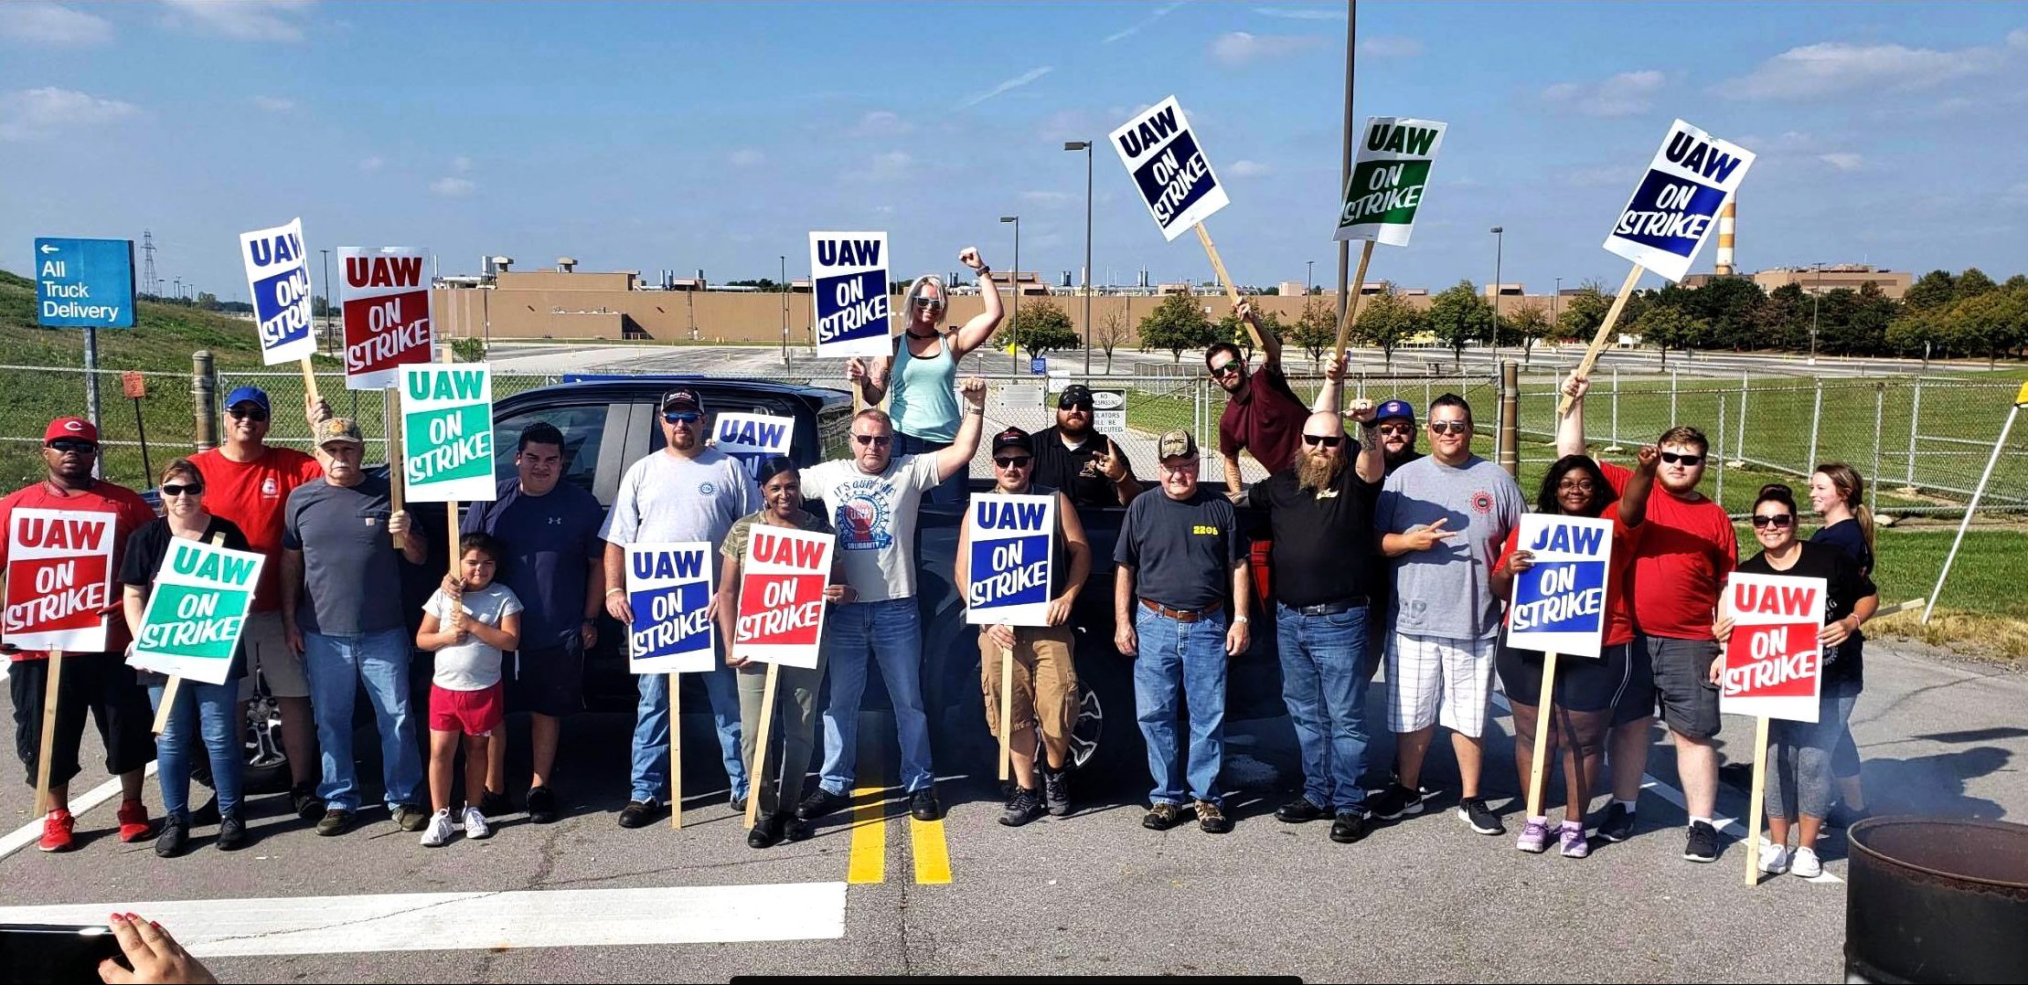
<svg viewBox="0 0 2028 985"><path fill-rule="evenodd" d="M1247 539L1233 503L1197 484L1201 458L1190 432L1164 434L1156 454L1162 495L1134 497L1113 547L1113 645L1136 657L1134 709L1154 776L1142 827L1182 823L1188 778L1197 827L1223 835L1233 829L1219 794L1225 659L1247 651ZM1186 764L1176 762L1176 691L1190 713Z"/></svg>

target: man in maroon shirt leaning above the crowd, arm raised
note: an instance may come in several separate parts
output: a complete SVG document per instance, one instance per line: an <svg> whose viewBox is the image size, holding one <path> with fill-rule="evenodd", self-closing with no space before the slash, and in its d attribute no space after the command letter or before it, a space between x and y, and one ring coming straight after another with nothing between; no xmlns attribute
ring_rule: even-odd
<svg viewBox="0 0 2028 985"><path fill-rule="evenodd" d="M1302 448L1302 424L1310 420L1310 407L1288 387L1282 375L1282 338L1261 330L1253 316L1253 306L1239 302L1233 314L1245 322L1247 332L1261 351L1261 367L1247 369L1247 357L1233 343L1213 343L1205 351L1205 369L1231 399L1219 415L1219 458L1225 460L1225 492L1239 499L1239 452L1253 452L1253 460L1268 468L1268 474L1282 472L1296 460ZM1338 409L1336 401L1316 409Z"/></svg>

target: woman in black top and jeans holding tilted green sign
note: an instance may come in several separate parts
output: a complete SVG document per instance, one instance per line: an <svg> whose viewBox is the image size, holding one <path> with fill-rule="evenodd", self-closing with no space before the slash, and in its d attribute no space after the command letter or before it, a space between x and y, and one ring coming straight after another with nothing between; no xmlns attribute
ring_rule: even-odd
<svg viewBox="0 0 2028 985"><path fill-rule="evenodd" d="M172 541L205 541L235 551L251 551L247 535L233 521L213 517L205 511L205 478L189 458L178 458L162 468L162 517L134 531L128 539L126 557L120 561L120 584L126 586L122 608L128 632L140 634L142 612L148 610L148 594L162 574ZM132 647L128 655L132 657ZM211 782L219 792L219 839L223 851L245 845L245 821L239 817L239 679L245 675L245 649L233 651L231 671L225 683L203 683L185 679L176 687L174 707L168 724L154 738L156 780L162 784L162 833L154 839L154 853L176 857L191 841L191 758L203 750L211 756ZM142 673L148 687L148 703L162 707L168 679L158 673Z"/></svg>

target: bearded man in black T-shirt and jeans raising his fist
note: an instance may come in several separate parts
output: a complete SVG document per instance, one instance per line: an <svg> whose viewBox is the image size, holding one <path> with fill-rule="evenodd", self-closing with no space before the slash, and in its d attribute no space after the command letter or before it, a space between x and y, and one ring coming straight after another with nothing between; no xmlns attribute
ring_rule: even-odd
<svg viewBox="0 0 2028 985"><path fill-rule="evenodd" d="M1375 572L1373 503L1381 448L1373 405L1353 403L1359 462L1347 462L1345 424L1312 413L1296 464L1253 486L1251 503L1274 531L1276 640L1282 701L1302 748L1302 797L1282 805L1284 823L1332 815L1330 839L1367 833L1367 614Z"/></svg>

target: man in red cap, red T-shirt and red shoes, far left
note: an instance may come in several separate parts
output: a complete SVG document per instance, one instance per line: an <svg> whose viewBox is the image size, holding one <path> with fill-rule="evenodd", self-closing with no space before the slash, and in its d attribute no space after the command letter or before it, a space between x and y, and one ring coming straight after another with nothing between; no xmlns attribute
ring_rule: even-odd
<svg viewBox="0 0 2028 985"><path fill-rule="evenodd" d="M120 570L128 537L154 519L154 509L132 488L101 482L91 476L99 456L99 430L83 418L57 418L43 432L43 462L49 478L22 486L0 499L0 582L6 578L16 509L63 509L114 515L114 557L105 572L107 584ZM118 596L107 592L103 614L120 612ZM12 618L8 618L12 622ZM99 728L105 744L105 772L120 776L120 841L148 837L148 809L140 803L142 768L154 758L154 715L148 693L126 665L128 630L124 618L110 618L103 653L65 653L57 685L57 736L49 754L49 815L43 817L43 851L67 851L71 829L71 778L79 774L79 742L85 738L85 711ZM43 699L49 689L49 653L14 651L8 647L8 691L14 699L14 752L28 768L28 786L43 754Z"/></svg>

